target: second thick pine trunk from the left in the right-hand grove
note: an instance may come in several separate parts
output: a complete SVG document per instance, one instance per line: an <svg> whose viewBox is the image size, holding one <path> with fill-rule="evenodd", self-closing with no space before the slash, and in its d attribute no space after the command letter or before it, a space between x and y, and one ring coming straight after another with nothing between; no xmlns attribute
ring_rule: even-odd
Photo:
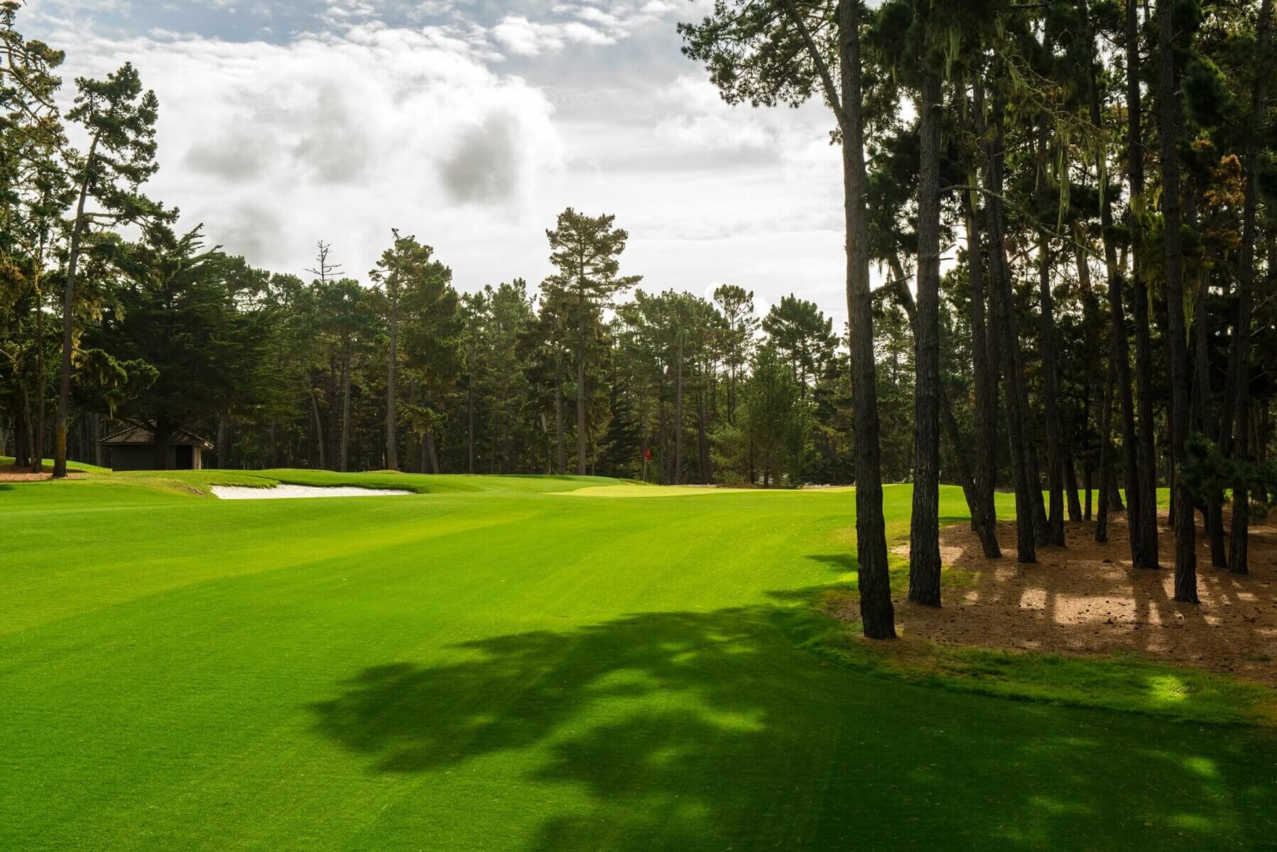
<svg viewBox="0 0 1277 852"><path fill-rule="evenodd" d="M909 600L940 605L940 73L918 102L918 319L913 330L913 513Z"/></svg>

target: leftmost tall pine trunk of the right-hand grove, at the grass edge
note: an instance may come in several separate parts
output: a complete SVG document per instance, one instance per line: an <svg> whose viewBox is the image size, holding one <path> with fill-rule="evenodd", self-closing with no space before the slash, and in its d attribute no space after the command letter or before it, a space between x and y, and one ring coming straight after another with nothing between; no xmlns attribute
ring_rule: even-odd
<svg viewBox="0 0 1277 852"><path fill-rule="evenodd" d="M843 204L847 222L847 314L852 351L856 425L856 549L861 622L870 639L895 639L895 608L888 574L879 447L873 312L870 294L868 217L865 208L865 126L861 103L858 0L839 0L838 55L842 75Z"/></svg>

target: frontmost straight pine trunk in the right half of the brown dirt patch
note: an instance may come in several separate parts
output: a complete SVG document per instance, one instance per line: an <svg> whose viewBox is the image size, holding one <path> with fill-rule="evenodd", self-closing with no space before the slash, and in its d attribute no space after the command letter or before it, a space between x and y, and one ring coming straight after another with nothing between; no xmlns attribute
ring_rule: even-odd
<svg viewBox="0 0 1277 852"><path fill-rule="evenodd" d="M1175 23L1167 0L1158 0L1158 52L1162 143L1162 244L1166 249L1166 313L1171 361L1171 460L1175 473L1175 599L1197 603L1197 525L1193 493L1184 476L1189 419L1189 356L1184 322L1184 247L1180 234L1180 107L1175 69Z"/></svg>

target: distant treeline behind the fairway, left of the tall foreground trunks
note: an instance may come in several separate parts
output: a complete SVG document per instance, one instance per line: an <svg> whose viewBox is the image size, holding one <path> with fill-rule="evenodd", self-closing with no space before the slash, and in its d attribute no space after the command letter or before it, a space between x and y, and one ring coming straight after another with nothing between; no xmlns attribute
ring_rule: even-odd
<svg viewBox="0 0 1277 852"><path fill-rule="evenodd" d="M146 194L160 105L138 72L77 79L64 112L64 55L18 11L0 5L0 448L19 466L102 462L142 423L157 468L184 430L222 468L848 480L815 304L760 327L739 287L649 291L621 273L626 231L572 209L536 287L458 290L398 231L363 276L323 241L304 277L253 268Z"/></svg>

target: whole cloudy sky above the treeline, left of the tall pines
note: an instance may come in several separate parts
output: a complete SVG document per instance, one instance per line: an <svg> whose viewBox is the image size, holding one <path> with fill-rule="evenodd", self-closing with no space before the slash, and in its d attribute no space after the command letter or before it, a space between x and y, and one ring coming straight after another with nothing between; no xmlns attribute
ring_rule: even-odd
<svg viewBox="0 0 1277 852"><path fill-rule="evenodd" d="M389 229L465 290L548 272L557 212L616 213L644 287L797 293L845 317L830 119L728 107L679 52L706 0L28 0L65 78L160 97L151 193L252 263L315 240L366 272Z"/></svg>

